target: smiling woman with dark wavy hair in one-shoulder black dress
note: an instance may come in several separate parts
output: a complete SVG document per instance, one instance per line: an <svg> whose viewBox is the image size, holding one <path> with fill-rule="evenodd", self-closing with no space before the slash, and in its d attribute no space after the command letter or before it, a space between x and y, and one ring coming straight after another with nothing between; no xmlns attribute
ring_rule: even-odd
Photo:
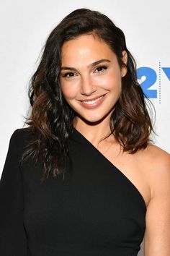
<svg viewBox="0 0 170 256"><path fill-rule="evenodd" d="M1 176L1 255L170 250L169 154L153 128L125 36L77 9L55 27L30 87L29 127Z"/></svg>

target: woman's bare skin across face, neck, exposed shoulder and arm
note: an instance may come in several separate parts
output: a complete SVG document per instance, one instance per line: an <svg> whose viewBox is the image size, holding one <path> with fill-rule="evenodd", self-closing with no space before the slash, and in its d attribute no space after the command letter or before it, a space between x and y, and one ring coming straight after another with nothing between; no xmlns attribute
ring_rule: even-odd
<svg viewBox="0 0 170 256"><path fill-rule="evenodd" d="M122 52L126 64L127 54ZM112 164L122 171L146 202L146 256L170 255L170 155L148 145L131 155L123 153L111 135L109 118L121 93L127 70L107 43L94 35L81 35L63 44L61 90L76 111L74 127ZM102 142L101 142L102 140Z"/></svg>

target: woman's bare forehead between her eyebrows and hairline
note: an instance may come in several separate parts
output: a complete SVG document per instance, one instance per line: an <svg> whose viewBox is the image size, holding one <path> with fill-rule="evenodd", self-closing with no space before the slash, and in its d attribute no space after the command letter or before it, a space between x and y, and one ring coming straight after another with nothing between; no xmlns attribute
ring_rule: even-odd
<svg viewBox="0 0 170 256"><path fill-rule="evenodd" d="M80 35L63 43L61 48L62 63L76 61L96 61L98 59L110 59L115 57L114 52L104 42L94 35Z"/></svg>

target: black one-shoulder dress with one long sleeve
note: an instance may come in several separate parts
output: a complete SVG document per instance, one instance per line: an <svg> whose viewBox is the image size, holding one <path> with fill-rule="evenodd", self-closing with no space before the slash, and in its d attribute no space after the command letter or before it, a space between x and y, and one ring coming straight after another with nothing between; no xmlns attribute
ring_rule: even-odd
<svg viewBox="0 0 170 256"><path fill-rule="evenodd" d="M76 129L68 176L41 183L41 163L19 164L29 129L12 135L0 184L1 256L135 256L145 232L138 189Z"/></svg>

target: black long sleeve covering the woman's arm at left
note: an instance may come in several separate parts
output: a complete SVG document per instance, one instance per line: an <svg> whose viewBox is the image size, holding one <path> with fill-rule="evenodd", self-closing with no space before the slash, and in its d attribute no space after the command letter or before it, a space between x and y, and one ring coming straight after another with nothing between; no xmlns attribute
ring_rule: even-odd
<svg viewBox="0 0 170 256"><path fill-rule="evenodd" d="M9 142L0 182L0 255L2 256L27 255L18 131L19 129L14 132Z"/></svg>

